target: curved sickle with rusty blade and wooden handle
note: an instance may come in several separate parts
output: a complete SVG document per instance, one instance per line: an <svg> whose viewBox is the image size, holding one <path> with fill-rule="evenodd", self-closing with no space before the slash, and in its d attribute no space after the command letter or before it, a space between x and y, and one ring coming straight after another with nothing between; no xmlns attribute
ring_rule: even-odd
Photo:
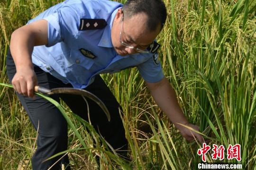
<svg viewBox="0 0 256 170"><path fill-rule="evenodd" d="M45 87L41 87L41 86L35 86L35 92L40 92L43 94L77 94L77 95L82 95L84 97L88 97L89 99L91 99L92 101L96 102L101 109L105 112L108 120L110 121L110 112L107 109L107 107L105 106L105 104L101 101L101 99L99 99L96 95L92 94L91 92L88 92L86 90L82 90L82 89L74 89L74 88L68 88L68 87L63 87L63 88L54 88L54 89L47 89Z"/></svg>

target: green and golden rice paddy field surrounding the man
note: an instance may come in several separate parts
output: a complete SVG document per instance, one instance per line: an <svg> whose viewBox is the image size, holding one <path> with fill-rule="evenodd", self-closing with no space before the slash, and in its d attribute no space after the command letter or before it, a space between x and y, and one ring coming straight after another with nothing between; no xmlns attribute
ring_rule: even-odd
<svg viewBox="0 0 256 170"><path fill-rule="evenodd" d="M0 0L0 170L30 170L37 131L9 84L6 54L11 33L62 0ZM223 145L224 160L256 170L256 1L164 0L167 20L157 37L160 60L179 104L209 140ZM119 0L124 3L124 0ZM202 144L189 143L155 104L137 68L101 75L123 107L131 162L103 146L90 123L64 102L55 103L69 121L73 170L195 170ZM49 99L50 100L50 99ZM54 101L53 101L54 102ZM86 131L84 127L90 129ZM96 144L93 144L96 140ZM241 145L241 161L227 158Z"/></svg>

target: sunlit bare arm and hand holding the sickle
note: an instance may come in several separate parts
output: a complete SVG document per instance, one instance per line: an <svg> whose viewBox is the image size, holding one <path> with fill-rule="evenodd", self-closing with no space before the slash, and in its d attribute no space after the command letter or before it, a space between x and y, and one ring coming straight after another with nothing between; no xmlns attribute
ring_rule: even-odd
<svg viewBox="0 0 256 170"><path fill-rule="evenodd" d="M11 83L15 91L25 96L34 97L37 77L31 54L34 46L47 44L47 28L47 21L42 19L18 28L11 35L10 51L16 66Z"/></svg>

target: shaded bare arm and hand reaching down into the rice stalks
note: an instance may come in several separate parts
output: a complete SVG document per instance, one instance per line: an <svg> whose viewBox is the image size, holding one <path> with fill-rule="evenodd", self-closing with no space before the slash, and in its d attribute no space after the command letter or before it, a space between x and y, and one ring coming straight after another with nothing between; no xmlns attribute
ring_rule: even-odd
<svg viewBox="0 0 256 170"><path fill-rule="evenodd" d="M168 118L174 123L174 125L180 130L181 134L188 141L194 139L193 136L196 136L198 140L203 143L203 138L200 134L195 133L189 130L186 127L183 127L177 123L192 127L193 129L199 130L199 127L192 125L186 119L181 110L179 103L177 101L176 94L174 89L171 87L170 83L166 78L163 78L160 82L157 83L148 83L146 82L148 89L150 90L155 102L163 110Z"/></svg>

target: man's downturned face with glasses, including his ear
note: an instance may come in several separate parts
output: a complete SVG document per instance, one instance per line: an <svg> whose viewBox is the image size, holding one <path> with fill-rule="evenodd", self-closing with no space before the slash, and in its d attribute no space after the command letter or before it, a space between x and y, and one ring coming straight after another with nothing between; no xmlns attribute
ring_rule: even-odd
<svg viewBox="0 0 256 170"><path fill-rule="evenodd" d="M146 50L147 46L155 40L160 32L160 25L156 31L148 31L146 18L144 13L128 18L125 17L121 9L118 10L111 29L111 41L119 55L126 56L138 53L140 50Z"/></svg>

